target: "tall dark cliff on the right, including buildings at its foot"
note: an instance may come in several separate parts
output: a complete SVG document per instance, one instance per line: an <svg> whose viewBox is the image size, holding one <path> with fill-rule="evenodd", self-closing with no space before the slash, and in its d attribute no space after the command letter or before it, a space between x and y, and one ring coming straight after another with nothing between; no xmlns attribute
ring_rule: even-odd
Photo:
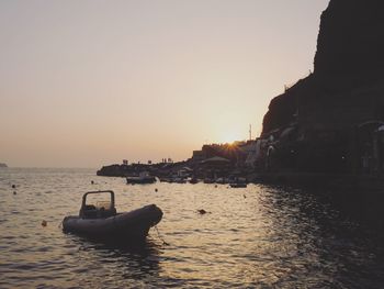
<svg viewBox="0 0 384 289"><path fill-rule="evenodd" d="M314 74L274 98L264 115L268 169L384 170L383 12L380 0L329 2Z"/></svg>

